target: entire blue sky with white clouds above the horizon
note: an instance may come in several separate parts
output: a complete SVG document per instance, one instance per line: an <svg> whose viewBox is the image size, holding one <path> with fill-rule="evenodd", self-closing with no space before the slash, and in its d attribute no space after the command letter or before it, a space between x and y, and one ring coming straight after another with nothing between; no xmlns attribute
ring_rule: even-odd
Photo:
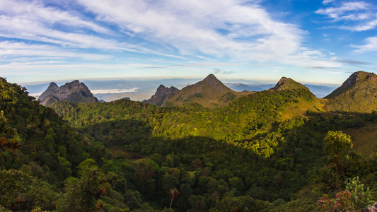
<svg viewBox="0 0 377 212"><path fill-rule="evenodd" d="M377 71L376 28L371 0L0 0L0 76L340 84Z"/></svg>

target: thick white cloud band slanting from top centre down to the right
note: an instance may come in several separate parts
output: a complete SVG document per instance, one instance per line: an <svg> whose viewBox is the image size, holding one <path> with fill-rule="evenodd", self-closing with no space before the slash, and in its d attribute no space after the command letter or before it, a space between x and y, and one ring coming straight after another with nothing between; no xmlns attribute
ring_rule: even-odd
<svg viewBox="0 0 377 212"><path fill-rule="evenodd" d="M171 46L182 55L297 64L306 35L296 25L274 20L261 6L237 0L79 0L79 3L95 13L98 20Z"/></svg>

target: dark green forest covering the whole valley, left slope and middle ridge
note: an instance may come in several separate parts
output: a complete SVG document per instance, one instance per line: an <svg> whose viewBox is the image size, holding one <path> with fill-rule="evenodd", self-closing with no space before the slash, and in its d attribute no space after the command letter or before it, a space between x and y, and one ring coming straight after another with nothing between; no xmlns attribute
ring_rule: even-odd
<svg viewBox="0 0 377 212"><path fill-rule="evenodd" d="M353 209L377 199L377 156L354 152L340 132L377 114L320 112L301 86L217 109L56 102L62 118L23 88L0 86L4 210L320 211L319 199L332 206L342 191Z"/></svg>

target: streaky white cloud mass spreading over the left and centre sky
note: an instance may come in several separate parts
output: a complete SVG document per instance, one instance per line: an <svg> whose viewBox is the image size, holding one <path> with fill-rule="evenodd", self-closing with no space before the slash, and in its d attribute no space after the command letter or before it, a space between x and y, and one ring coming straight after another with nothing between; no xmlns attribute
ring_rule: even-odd
<svg viewBox="0 0 377 212"><path fill-rule="evenodd" d="M258 1L74 1L86 11L43 2L0 0L0 37L13 40L0 42L0 61L11 61L8 69L50 69L53 64L45 61L64 69L71 67L65 60L122 59L117 56L124 52L226 63L340 66L303 48L308 33L275 20ZM35 59L43 64L33 64Z"/></svg>

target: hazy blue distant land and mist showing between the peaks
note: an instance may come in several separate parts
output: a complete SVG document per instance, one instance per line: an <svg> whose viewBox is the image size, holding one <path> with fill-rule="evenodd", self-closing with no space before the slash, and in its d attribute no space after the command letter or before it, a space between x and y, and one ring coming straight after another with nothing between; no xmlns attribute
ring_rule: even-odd
<svg viewBox="0 0 377 212"><path fill-rule="evenodd" d="M146 79L129 79L129 80L110 80L110 81L94 81L85 80L86 86L91 90L91 93L98 98L98 100L105 100L110 102L122 98L130 98L134 101L149 100L153 94L156 93L156 88L163 85L166 87L175 87L178 89L185 88L186 86L193 85L202 79L161 79L161 80L146 80ZM65 82L64 82L65 83ZM57 86L64 85L63 82L56 82ZM231 90L242 92L248 91L261 91L274 87L274 83L265 81L247 81L247 80L222 80L225 86ZM38 85L22 85L27 88L30 95L35 98L47 89L50 83L42 83ZM337 86L333 85L313 85L306 84L311 92L318 98L323 98L335 90Z"/></svg>

